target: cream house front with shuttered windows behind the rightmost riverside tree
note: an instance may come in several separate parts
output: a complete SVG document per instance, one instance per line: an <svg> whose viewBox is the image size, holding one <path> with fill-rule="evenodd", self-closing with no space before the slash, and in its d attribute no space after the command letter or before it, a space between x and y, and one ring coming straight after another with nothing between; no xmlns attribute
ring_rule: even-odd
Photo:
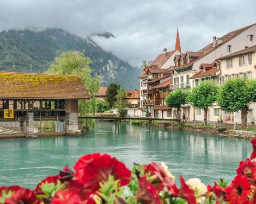
<svg viewBox="0 0 256 204"><path fill-rule="evenodd" d="M254 40L254 39L251 39ZM227 79L243 77L256 79L256 45L219 58L222 83ZM241 123L241 112L223 112L223 121ZM247 123L256 118L256 104L249 106Z"/></svg>

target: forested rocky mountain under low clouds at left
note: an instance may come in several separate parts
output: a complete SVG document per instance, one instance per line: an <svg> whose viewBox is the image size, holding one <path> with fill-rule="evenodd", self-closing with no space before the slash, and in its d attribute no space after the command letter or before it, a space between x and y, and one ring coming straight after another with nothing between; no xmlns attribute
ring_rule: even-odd
<svg viewBox="0 0 256 204"><path fill-rule="evenodd" d="M111 33L100 35L114 37ZM115 82L125 89L139 87L139 68L106 52L90 37L84 39L57 28L1 31L0 71L43 73L57 54L67 50L86 50L93 61L92 75L101 76L101 86Z"/></svg>

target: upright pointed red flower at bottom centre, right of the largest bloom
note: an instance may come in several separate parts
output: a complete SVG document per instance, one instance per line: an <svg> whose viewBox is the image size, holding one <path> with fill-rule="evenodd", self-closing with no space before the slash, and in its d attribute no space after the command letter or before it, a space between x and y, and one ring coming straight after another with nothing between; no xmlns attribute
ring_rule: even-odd
<svg viewBox="0 0 256 204"><path fill-rule="evenodd" d="M136 199L142 204L161 204L159 196L156 194L156 188L147 181L147 178L139 178L139 192Z"/></svg>

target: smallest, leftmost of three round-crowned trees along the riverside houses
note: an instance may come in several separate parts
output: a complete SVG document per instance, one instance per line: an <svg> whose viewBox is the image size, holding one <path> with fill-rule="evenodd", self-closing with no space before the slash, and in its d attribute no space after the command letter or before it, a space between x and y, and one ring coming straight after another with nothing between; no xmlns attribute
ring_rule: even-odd
<svg viewBox="0 0 256 204"><path fill-rule="evenodd" d="M166 104L169 107L175 107L177 109L178 119L180 119L181 105L184 105L187 103L186 98L187 98L187 91L182 88L178 88L170 92L169 95L167 95L166 97Z"/></svg>

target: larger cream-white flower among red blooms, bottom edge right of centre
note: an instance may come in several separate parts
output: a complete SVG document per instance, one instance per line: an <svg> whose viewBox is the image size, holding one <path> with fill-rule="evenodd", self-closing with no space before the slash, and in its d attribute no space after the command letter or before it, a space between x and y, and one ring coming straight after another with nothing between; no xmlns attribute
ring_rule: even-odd
<svg viewBox="0 0 256 204"><path fill-rule="evenodd" d="M203 184L201 180L197 178L188 179L186 181L186 184L194 190L195 196L197 198L197 203L202 203L202 201L205 199L205 195L207 192L207 187L205 186L205 184Z"/></svg>

